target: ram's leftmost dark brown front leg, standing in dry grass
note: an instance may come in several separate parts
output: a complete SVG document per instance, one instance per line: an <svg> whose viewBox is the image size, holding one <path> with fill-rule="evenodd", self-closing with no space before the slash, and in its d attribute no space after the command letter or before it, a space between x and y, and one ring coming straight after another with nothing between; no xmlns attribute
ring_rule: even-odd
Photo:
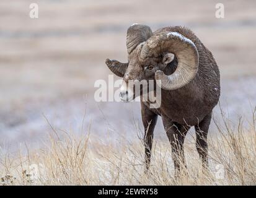
<svg viewBox="0 0 256 198"><path fill-rule="evenodd" d="M156 126L157 114L141 102L141 117L144 125L144 146L145 146L145 164L147 173L151 160L152 141L154 137L154 127Z"/></svg>

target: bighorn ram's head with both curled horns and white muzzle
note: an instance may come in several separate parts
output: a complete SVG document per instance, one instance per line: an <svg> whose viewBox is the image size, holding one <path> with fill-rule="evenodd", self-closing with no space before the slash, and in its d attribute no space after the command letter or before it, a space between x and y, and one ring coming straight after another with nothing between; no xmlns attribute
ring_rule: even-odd
<svg viewBox="0 0 256 198"><path fill-rule="evenodd" d="M175 90L187 85L198 71L195 44L178 32L153 35L147 25L135 24L128 28L126 46L128 63L106 60L108 68L123 78L120 88L123 101L131 101L141 95L141 88L146 87L144 83L150 85L149 80L154 80L165 90ZM174 58L177 61L175 72L164 74L164 69ZM139 92L138 84L141 87Z"/></svg>

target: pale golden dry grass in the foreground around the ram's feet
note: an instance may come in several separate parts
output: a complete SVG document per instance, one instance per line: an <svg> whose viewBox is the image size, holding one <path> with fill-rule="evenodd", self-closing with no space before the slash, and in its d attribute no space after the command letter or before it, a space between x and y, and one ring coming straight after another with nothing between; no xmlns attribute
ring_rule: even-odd
<svg viewBox="0 0 256 198"><path fill-rule="evenodd" d="M210 168L201 170L194 136L185 141L188 174L174 178L170 145L154 142L149 174L144 174L141 139L105 144L87 135L76 137L53 129L44 149L24 154L1 153L2 185L255 185L255 112L249 127L224 118L216 136L209 137Z"/></svg>

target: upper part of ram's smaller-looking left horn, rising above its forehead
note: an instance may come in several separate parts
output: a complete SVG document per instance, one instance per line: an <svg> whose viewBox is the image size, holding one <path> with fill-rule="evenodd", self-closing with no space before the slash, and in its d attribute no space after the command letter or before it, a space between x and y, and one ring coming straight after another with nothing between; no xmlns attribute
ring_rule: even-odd
<svg viewBox="0 0 256 198"><path fill-rule="evenodd" d="M152 30L148 25L141 24L133 24L127 30L126 35L126 46L128 54L131 54L133 49L139 45L139 43L143 43L148 40L153 35Z"/></svg>

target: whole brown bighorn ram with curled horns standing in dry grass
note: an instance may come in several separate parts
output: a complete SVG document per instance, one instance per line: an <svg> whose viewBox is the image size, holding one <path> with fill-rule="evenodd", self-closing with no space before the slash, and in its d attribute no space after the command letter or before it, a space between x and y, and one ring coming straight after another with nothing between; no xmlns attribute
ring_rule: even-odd
<svg viewBox="0 0 256 198"><path fill-rule="evenodd" d="M136 96L128 80L161 80L161 106L149 108L141 100L145 130L145 163L149 168L153 131L157 115L162 117L172 146L175 171L185 165L183 142L190 127L196 131L196 149L208 165L206 141L211 114L220 95L219 69L211 52L185 27L165 27L152 33L147 25L134 24L127 30L128 62L106 60L108 68L123 77L120 97L130 101Z"/></svg>

